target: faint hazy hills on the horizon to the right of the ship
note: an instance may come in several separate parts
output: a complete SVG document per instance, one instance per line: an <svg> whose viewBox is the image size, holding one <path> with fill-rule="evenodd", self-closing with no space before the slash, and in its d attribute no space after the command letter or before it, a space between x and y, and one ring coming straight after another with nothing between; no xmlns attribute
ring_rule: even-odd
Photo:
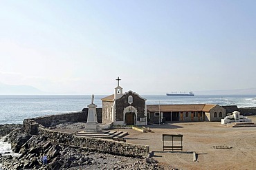
<svg viewBox="0 0 256 170"><path fill-rule="evenodd" d="M256 95L256 88L248 89L221 89L221 90L205 90L197 91L195 94L208 94L208 95Z"/></svg>

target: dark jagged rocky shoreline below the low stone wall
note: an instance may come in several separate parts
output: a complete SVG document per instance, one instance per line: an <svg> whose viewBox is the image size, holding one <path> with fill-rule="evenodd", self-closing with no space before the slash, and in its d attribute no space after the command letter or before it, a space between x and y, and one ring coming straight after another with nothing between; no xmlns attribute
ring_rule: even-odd
<svg viewBox="0 0 256 170"><path fill-rule="evenodd" d="M132 158L109 153L87 151L47 140L47 136L31 136L22 125L1 125L0 137L6 136L18 157L0 155L3 169L163 169L153 158ZM42 156L48 164L42 165Z"/></svg>

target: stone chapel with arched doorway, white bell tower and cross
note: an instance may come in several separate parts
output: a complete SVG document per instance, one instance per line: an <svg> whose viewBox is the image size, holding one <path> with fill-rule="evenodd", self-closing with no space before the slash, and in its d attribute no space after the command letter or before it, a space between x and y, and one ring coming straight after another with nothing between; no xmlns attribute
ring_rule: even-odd
<svg viewBox="0 0 256 170"><path fill-rule="evenodd" d="M113 125L147 125L146 99L131 90L122 92L119 85L114 94L102 98L102 123Z"/></svg>

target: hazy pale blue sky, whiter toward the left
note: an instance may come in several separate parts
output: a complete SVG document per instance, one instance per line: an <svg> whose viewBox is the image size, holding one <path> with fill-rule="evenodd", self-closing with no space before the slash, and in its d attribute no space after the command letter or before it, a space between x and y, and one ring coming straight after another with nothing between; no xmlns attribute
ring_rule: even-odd
<svg viewBox="0 0 256 170"><path fill-rule="evenodd" d="M256 87L256 1L0 0L0 83L61 94Z"/></svg>

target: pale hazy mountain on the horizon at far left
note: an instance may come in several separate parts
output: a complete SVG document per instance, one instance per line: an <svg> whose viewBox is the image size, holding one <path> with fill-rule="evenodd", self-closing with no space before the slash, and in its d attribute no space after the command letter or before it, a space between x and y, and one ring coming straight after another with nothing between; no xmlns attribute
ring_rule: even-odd
<svg viewBox="0 0 256 170"><path fill-rule="evenodd" d="M41 90L30 85L6 85L0 83L0 94L43 94Z"/></svg>

